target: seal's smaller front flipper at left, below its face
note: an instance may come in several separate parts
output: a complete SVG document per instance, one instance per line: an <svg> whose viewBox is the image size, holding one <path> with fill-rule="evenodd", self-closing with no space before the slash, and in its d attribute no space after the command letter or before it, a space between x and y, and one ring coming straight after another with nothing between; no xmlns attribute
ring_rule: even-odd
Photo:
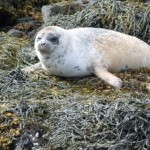
<svg viewBox="0 0 150 150"><path fill-rule="evenodd" d="M35 72L36 70L42 70L42 69L43 68L42 68L41 63L36 63L36 64L34 64L32 66L29 66L29 67L26 67L24 69L21 69L21 71L30 74L30 73Z"/></svg>

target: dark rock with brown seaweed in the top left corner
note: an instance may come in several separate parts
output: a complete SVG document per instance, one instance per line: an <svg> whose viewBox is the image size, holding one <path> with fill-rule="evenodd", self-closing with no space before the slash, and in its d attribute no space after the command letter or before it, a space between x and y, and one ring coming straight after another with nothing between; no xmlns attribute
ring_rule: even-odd
<svg viewBox="0 0 150 150"><path fill-rule="evenodd" d="M64 0L9 0L0 1L0 27L14 25L18 18L33 17L41 20L41 6L62 2ZM8 9L9 8L9 9ZM39 16L40 15L40 16Z"/></svg>

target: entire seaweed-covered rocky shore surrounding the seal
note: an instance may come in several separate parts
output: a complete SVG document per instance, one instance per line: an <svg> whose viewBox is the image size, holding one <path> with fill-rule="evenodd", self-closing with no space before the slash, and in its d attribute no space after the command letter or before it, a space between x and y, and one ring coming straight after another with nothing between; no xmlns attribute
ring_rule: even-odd
<svg viewBox="0 0 150 150"><path fill-rule="evenodd" d="M150 44L149 20L147 0L0 1L0 150L150 149L150 69L118 73L118 91L96 77L20 70L38 62L45 26L109 28Z"/></svg>

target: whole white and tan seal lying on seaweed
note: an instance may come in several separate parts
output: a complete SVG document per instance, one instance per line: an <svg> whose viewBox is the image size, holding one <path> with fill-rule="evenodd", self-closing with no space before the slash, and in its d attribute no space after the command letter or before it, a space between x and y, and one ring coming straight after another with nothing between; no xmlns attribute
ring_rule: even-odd
<svg viewBox="0 0 150 150"><path fill-rule="evenodd" d="M115 88L122 80L112 73L150 67L150 46L124 33L102 28L66 30L48 26L38 32L35 50L39 63L23 69L44 69L62 77L95 74Z"/></svg>

